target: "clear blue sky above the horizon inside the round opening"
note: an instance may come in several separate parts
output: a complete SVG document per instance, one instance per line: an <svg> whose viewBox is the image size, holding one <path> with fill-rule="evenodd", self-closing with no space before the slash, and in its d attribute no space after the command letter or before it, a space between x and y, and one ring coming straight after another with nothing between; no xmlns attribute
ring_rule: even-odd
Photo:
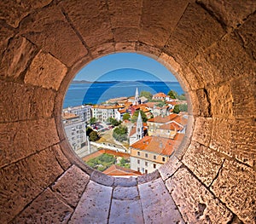
<svg viewBox="0 0 256 224"><path fill-rule="evenodd" d="M117 53L92 60L79 71L74 80L177 82L165 66L137 53Z"/></svg>

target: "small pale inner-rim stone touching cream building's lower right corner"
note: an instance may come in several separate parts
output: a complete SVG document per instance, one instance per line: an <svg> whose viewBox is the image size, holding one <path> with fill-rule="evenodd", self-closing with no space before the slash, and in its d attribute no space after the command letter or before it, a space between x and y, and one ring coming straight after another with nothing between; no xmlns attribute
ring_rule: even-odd
<svg viewBox="0 0 256 224"><path fill-rule="evenodd" d="M172 156L166 164L160 166L160 169L158 169L162 179L166 181L181 165L182 163L175 156Z"/></svg>

